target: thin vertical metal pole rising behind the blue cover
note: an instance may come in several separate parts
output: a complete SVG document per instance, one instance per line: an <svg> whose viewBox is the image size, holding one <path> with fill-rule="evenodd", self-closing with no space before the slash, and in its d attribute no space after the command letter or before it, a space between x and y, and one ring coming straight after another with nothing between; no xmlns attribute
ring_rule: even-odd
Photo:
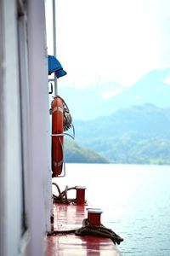
<svg viewBox="0 0 170 256"><path fill-rule="evenodd" d="M53 39L54 39L54 56L57 55L56 47L56 13L55 13L55 0L53 0ZM57 79L54 75L54 96L58 95Z"/></svg>

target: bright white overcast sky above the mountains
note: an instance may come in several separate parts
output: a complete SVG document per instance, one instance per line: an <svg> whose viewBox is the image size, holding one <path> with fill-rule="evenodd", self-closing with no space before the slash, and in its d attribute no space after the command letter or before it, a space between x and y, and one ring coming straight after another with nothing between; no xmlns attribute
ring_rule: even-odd
<svg viewBox="0 0 170 256"><path fill-rule="evenodd" d="M48 1L50 2L50 1ZM47 8L48 54L53 54ZM61 86L113 81L131 86L154 68L170 67L169 0L56 0Z"/></svg>

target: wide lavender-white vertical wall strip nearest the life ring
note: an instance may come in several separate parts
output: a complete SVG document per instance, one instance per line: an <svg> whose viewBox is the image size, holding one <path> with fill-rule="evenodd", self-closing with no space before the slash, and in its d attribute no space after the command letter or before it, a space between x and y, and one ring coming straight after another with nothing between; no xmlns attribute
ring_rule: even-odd
<svg viewBox="0 0 170 256"><path fill-rule="evenodd" d="M27 20L32 158L29 224L31 225L31 255L42 255L45 231L50 228L52 195L48 62L44 3L42 0L28 1Z"/></svg>

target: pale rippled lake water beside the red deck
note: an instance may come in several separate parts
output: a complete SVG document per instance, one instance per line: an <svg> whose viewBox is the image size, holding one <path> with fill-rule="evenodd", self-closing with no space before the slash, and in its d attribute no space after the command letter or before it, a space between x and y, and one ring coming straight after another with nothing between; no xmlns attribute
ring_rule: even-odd
<svg viewBox="0 0 170 256"><path fill-rule="evenodd" d="M170 166L66 164L55 181L86 186L102 224L124 239L123 256L170 256Z"/></svg>

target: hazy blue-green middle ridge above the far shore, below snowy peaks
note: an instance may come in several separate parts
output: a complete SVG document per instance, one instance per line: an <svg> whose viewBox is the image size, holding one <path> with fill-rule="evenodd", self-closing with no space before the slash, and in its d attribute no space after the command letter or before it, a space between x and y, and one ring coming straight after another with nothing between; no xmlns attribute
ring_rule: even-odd
<svg viewBox="0 0 170 256"><path fill-rule="evenodd" d="M112 163L170 165L170 108L133 106L75 127L80 145Z"/></svg>

